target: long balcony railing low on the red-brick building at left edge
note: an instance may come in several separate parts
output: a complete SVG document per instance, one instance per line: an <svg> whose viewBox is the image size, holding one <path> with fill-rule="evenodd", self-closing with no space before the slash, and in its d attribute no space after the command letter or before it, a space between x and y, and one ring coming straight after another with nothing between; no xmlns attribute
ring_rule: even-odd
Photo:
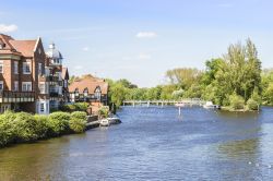
<svg viewBox="0 0 273 181"><path fill-rule="evenodd" d="M32 102L35 101L34 92L0 92L0 102Z"/></svg>

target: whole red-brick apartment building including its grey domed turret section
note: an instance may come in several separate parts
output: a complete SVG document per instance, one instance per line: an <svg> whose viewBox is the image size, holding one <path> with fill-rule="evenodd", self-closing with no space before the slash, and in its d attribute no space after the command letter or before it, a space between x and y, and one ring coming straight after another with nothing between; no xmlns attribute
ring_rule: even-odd
<svg viewBox="0 0 273 181"><path fill-rule="evenodd" d="M68 80L54 44L45 52L40 38L15 40L0 34L0 112L48 114L69 101Z"/></svg>

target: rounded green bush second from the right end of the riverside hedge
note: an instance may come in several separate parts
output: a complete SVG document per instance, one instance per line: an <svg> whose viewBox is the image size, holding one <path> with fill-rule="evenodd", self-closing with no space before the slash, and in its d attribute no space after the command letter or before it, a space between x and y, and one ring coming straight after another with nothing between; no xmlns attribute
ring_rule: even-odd
<svg viewBox="0 0 273 181"><path fill-rule="evenodd" d="M54 112L49 116L48 126L50 129L50 135L61 135L69 133L70 113L67 112Z"/></svg>

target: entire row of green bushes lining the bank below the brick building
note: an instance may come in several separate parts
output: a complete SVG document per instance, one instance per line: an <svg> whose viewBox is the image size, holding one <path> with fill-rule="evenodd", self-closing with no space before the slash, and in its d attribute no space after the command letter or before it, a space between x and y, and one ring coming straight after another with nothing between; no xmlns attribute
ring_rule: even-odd
<svg viewBox="0 0 273 181"><path fill-rule="evenodd" d="M54 112L49 116L7 111L0 114L0 147L83 133L86 123L83 111Z"/></svg>

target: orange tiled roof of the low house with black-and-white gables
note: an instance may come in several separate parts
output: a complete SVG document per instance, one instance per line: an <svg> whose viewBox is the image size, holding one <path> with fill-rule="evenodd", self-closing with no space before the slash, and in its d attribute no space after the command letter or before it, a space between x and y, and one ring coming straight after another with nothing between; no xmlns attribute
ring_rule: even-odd
<svg viewBox="0 0 273 181"><path fill-rule="evenodd" d="M88 75L71 83L69 92L73 93L78 88L79 93L82 94L84 89L87 88L88 93L95 93L97 87L100 87L102 94L108 93L108 83L106 83L105 80Z"/></svg>

